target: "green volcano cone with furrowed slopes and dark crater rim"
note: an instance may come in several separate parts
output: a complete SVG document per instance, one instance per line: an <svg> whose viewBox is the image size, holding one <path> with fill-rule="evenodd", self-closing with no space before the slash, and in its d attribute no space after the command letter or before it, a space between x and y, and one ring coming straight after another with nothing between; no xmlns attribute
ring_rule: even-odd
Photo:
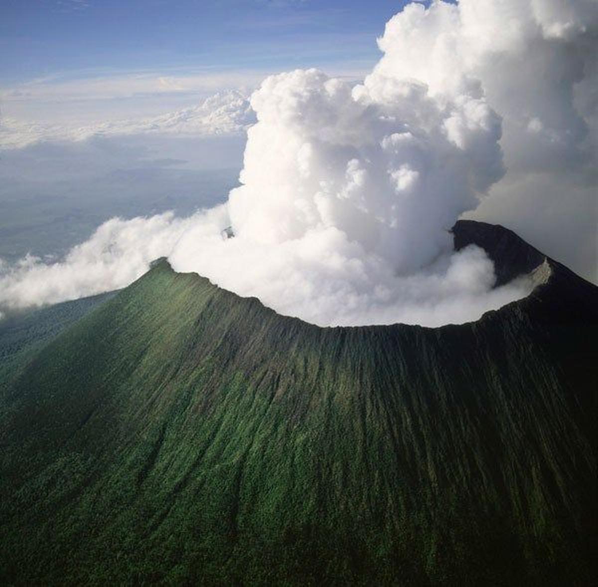
<svg viewBox="0 0 598 587"><path fill-rule="evenodd" d="M597 288L453 232L540 285L319 328L162 261L62 332L1 405L0 580L590 585Z"/></svg>

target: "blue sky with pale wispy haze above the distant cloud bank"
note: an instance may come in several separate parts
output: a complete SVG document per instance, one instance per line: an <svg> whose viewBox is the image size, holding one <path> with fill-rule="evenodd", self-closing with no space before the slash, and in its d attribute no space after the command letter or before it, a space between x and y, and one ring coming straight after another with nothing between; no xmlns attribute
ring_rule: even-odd
<svg viewBox="0 0 598 587"><path fill-rule="evenodd" d="M192 106L267 75L353 79L404 0L0 0L6 120L87 124Z"/></svg>

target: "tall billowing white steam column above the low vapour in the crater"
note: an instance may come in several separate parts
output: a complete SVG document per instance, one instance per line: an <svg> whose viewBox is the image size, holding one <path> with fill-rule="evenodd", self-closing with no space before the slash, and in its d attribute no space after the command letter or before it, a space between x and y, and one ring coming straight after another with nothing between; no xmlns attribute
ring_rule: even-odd
<svg viewBox="0 0 598 587"><path fill-rule="evenodd" d="M258 123L228 204L240 239L340 236L406 273L502 175L501 120L483 97L440 103L417 81L351 88L309 70L267 79L251 104Z"/></svg>

